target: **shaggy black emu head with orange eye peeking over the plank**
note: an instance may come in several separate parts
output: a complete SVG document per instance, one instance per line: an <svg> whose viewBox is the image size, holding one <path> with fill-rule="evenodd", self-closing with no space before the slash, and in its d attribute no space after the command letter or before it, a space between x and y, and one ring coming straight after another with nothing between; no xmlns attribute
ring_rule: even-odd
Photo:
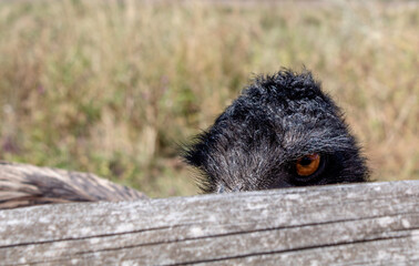
<svg viewBox="0 0 419 266"><path fill-rule="evenodd" d="M184 149L204 192L364 182L368 170L343 113L310 72L258 76Z"/></svg>

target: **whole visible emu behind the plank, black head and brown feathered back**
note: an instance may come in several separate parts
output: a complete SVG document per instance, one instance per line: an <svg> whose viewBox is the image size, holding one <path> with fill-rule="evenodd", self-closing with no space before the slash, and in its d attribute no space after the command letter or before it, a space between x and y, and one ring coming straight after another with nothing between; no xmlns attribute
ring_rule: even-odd
<svg viewBox="0 0 419 266"><path fill-rule="evenodd" d="M205 193L368 181L343 112L309 71L256 78L182 156ZM0 208L145 197L91 174L19 167L0 175Z"/></svg>

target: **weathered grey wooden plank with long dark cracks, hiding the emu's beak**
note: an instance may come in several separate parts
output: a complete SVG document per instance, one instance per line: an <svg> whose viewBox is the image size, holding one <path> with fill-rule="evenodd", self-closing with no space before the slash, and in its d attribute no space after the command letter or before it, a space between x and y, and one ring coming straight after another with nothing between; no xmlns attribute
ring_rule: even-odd
<svg viewBox="0 0 419 266"><path fill-rule="evenodd" d="M0 211L0 264L418 265L419 181Z"/></svg>

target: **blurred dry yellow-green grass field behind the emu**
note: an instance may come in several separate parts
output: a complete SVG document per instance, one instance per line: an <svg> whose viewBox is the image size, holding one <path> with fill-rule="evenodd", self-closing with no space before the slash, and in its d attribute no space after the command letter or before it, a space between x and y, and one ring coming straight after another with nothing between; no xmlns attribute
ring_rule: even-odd
<svg viewBox="0 0 419 266"><path fill-rule="evenodd" d="M177 144L257 73L313 70L379 181L419 178L410 1L1 1L0 160L196 194Z"/></svg>

